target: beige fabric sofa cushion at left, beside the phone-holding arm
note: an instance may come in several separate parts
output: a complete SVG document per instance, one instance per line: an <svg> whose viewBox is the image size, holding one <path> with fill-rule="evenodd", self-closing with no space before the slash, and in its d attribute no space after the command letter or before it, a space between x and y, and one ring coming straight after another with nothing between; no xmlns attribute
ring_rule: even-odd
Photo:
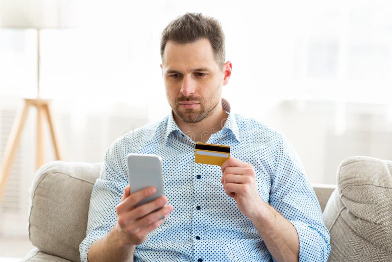
<svg viewBox="0 0 392 262"><path fill-rule="evenodd" d="M29 238L41 251L80 261L86 236L91 191L101 163L52 161L34 177L29 209Z"/></svg>

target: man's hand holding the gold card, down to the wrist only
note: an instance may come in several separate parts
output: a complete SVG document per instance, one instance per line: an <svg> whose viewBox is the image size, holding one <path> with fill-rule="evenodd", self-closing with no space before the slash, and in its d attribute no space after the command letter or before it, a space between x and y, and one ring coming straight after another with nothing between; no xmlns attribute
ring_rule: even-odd
<svg viewBox="0 0 392 262"><path fill-rule="evenodd" d="M257 190L253 166L234 157L221 166L221 183L227 195L237 202L238 209L250 220L258 218L260 208L266 203Z"/></svg>

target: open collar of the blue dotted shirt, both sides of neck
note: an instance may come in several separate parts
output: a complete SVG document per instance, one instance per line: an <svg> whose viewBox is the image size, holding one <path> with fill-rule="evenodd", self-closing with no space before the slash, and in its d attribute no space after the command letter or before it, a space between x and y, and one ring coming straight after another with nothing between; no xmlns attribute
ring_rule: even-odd
<svg viewBox="0 0 392 262"><path fill-rule="evenodd" d="M223 110L229 114L227 116L226 122L225 122L221 131L223 131L223 132L231 131L234 134L235 138L238 141L240 141L240 131L238 129L238 125L237 125L237 121L235 119L234 113L231 110L231 106L230 106L229 102L224 98L221 99L221 103L222 103ZM173 111L171 110L171 112L169 113L169 116L168 116L168 124L167 124L167 128L166 128L165 140L164 140L165 142L168 141L169 135L174 131L181 132L180 128L177 126L177 124L174 121Z"/></svg>

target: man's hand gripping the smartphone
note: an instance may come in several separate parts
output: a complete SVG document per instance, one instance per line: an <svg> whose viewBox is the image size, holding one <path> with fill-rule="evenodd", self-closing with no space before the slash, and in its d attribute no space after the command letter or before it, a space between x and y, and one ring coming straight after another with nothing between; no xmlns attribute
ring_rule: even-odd
<svg viewBox="0 0 392 262"><path fill-rule="evenodd" d="M122 233L122 245L139 245L147 235L159 227L172 212L173 207L168 200L161 196L149 203L135 207L143 199L153 195L156 189L147 187L135 193L130 193L129 186L125 187L121 203L117 206L117 229ZM160 219L165 216L164 219Z"/></svg>

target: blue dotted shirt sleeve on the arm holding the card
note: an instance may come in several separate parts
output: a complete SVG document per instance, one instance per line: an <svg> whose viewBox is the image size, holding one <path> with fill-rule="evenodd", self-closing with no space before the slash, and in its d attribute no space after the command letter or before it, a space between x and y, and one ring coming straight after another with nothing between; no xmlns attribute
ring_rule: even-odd
<svg viewBox="0 0 392 262"><path fill-rule="evenodd" d="M299 238L299 261L327 261L330 235L316 193L292 144L282 135L270 192L270 205L287 218Z"/></svg>

